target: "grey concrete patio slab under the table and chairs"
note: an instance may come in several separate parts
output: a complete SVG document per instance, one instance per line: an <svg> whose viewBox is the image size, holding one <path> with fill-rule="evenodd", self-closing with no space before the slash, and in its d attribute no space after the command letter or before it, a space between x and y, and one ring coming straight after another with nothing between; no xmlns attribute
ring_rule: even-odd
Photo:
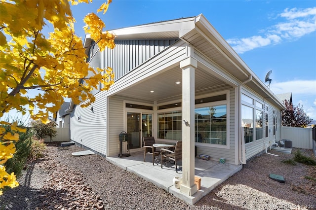
<svg viewBox="0 0 316 210"><path fill-rule="evenodd" d="M207 161L196 157L195 175L201 178L201 188L197 190L195 194L189 196L181 193L179 189L175 188L172 181L175 176L182 177L182 164L180 164L180 170L178 170L177 174L175 168L171 166L172 164L168 164L167 167L161 169L161 166L156 163L153 166L151 155L146 156L145 162L143 161L143 158L143 151L131 153L129 157L124 158L119 158L118 155L106 157L106 159L114 165L139 175L190 205L195 204L216 186L240 171L242 168L241 165L228 163L221 164L219 161Z"/></svg>

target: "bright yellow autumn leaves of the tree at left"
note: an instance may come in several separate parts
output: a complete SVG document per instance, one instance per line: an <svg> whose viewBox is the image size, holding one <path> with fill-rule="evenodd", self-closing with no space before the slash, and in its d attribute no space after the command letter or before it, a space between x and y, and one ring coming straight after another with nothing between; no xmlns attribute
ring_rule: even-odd
<svg viewBox="0 0 316 210"><path fill-rule="evenodd" d="M111 1L97 12L105 13ZM16 109L46 121L64 98L89 105L95 100L93 88L102 84L102 90L108 90L114 83L111 68L94 70L86 62L86 48L75 34L70 7L81 2L92 0L0 0L0 117ZM83 21L100 51L115 47L115 35L103 31L105 24L96 14L89 13ZM53 30L43 32L49 29ZM31 96L30 90L37 92ZM12 126L11 131L17 131ZM0 193L4 186L17 186L14 174L8 175L3 167L15 152L16 140L17 133L0 127Z"/></svg>

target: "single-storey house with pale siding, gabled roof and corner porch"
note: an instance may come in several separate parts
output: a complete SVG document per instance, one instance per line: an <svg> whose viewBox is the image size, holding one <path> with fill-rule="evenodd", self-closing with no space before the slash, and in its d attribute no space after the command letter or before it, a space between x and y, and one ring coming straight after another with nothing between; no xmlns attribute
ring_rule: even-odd
<svg viewBox="0 0 316 210"><path fill-rule="evenodd" d="M122 131L131 153L142 137L182 140L181 191L189 195L195 147L239 165L280 140L283 104L202 14L111 32L113 50L85 37L90 66L112 67L115 84L93 90L89 107L71 102L71 140L106 156L118 155Z"/></svg>

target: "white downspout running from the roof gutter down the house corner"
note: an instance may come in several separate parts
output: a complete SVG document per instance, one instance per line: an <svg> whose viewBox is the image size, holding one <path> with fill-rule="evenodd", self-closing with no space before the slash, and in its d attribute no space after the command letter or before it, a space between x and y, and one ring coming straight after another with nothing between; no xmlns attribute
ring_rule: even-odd
<svg viewBox="0 0 316 210"><path fill-rule="evenodd" d="M245 142L242 142L241 138L241 86L250 82L252 79L252 75L249 76L249 78L246 81L243 81L239 86L238 86L238 140L239 140L239 162L241 164L246 164L246 150L245 150ZM242 155L241 155L242 153Z"/></svg>

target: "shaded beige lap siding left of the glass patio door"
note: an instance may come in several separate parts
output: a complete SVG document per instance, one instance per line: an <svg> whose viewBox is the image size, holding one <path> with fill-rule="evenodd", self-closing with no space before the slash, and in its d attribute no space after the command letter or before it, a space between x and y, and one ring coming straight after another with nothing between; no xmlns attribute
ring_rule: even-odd
<svg viewBox="0 0 316 210"><path fill-rule="evenodd" d="M109 151L108 155L118 155L119 138L118 135L124 128L123 100L111 97L109 99Z"/></svg>

